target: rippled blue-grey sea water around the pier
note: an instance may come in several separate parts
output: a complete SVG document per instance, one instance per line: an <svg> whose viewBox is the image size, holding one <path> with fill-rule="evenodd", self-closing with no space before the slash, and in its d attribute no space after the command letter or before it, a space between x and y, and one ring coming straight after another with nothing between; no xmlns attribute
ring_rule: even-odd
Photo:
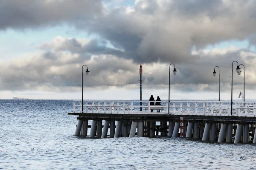
<svg viewBox="0 0 256 170"><path fill-rule="evenodd" d="M0 169L256 169L254 144L77 137L72 111L72 100L0 100Z"/></svg>

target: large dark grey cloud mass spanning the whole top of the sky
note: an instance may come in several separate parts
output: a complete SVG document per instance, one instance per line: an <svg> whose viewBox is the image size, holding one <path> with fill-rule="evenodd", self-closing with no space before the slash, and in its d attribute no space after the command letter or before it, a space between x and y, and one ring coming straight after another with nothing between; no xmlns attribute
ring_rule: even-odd
<svg viewBox="0 0 256 170"><path fill-rule="evenodd" d="M0 29L66 23L99 37L84 48L74 39L66 40L65 45L75 52L112 54L138 64L191 63L200 59L191 55L193 48L248 37L253 44L255 8L255 0L137 0L134 6L112 8L100 0L4 0Z"/></svg>

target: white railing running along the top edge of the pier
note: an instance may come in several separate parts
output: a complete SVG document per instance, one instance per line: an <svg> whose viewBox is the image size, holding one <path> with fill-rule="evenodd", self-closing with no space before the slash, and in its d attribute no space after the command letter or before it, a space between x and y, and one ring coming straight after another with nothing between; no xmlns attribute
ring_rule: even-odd
<svg viewBox="0 0 256 170"><path fill-rule="evenodd" d="M140 105L142 102L142 105ZM198 116L231 116L230 101L195 101L172 100L160 101L160 105L150 105L148 100L84 100L83 113L110 114L172 114ZM159 101L154 101L159 102ZM168 108L170 110L168 111ZM141 111L140 111L141 110ZM151 112L153 110L153 112ZM157 112L159 110L160 112ZM73 112L82 113L81 100L74 100ZM234 101L233 116L256 116L256 101Z"/></svg>

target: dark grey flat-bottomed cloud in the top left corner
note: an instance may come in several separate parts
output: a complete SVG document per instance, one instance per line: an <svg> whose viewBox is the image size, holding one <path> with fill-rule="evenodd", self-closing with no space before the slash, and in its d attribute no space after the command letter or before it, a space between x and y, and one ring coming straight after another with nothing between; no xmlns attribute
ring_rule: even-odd
<svg viewBox="0 0 256 170"><path fill-rule="evenodd" d="M70 24L101 13L100 0L1 0L0 29Z"/></svg>

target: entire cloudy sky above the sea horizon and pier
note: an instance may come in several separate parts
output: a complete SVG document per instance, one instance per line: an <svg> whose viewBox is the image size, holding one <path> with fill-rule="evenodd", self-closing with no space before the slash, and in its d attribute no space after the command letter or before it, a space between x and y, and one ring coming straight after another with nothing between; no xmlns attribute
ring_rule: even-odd
<svg viewBox="0 0 256 170"><path fill-rule="evenodd" d="M82 65L84 99L140 99L140 64L144 100L168 99L169 68L170 99L218 99L220 73L220 98L230 100L232 70L233 99L244 86L245 100L256 99L255 8L256 0L1 0L0 99L81 99Z"/></svg>

